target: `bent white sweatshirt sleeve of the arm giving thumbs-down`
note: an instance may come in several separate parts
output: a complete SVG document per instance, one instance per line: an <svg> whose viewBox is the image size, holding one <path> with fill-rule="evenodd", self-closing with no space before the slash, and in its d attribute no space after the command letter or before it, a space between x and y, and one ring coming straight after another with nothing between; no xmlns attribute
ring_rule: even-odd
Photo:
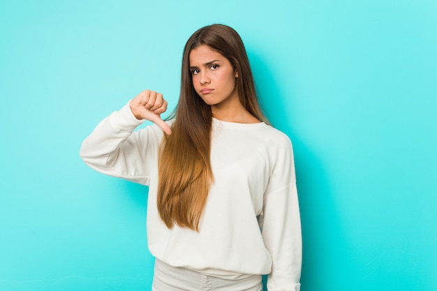
<svg viewBox="0 0 437 291"><path fill-rule="evenodd" d="M82 142L80 157L98 172L148 185L163 131L151 125L134 132L144 121L126 104L94 128Z"/></svg>

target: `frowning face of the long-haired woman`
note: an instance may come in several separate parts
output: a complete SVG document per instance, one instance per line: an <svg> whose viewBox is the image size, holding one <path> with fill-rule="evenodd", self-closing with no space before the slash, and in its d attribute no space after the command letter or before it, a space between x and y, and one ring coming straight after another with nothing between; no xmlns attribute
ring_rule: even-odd
<svg viewBox="0 0 437 291"><path fill-rule="evenodd" d="M238 73L230 61L207 45L190 52L190 71L193 86L200 98L212 110L231 108L239 103L235 78Z"/></svg>

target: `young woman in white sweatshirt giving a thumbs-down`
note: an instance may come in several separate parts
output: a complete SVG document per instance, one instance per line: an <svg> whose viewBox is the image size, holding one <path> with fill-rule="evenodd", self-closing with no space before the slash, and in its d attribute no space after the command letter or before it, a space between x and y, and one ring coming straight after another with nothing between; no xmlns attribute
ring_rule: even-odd
<svg viewBox="0 0 437 291"><path fill-rule="evenodd" d="M152 290L299 290L302 239L290 140L267 124L238 33L188 39L177 109L145 90L103 119L80 156L149 186ZM134 132L145 120L153 121Z"/></svg>

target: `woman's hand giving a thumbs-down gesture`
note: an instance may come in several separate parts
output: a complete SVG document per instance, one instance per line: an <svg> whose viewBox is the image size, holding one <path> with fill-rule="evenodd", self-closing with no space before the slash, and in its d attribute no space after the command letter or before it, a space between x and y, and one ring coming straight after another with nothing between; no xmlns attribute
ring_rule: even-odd
<svg viewBox="0 0 437 291"><path fill-rule="evenodd" d="M163 94L150 90L142 91L131 100L129 106L136 119L147 119L161 127L168 135L172 134L170 126L161 119L161 114L167 110L167 101L164 100Z"/></svg>

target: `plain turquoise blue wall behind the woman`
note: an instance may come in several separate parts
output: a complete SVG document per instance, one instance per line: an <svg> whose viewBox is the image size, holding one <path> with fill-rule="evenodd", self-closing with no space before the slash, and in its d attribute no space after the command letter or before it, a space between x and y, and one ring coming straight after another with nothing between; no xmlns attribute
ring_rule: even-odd
<svg viewBox="0 0 437 291"><path fill-rule="evenodd" d="M437 1L0 3L0 290L150 290L147 188L80 144L143 89L174 108L182 50L242 36L294 144L302 291L437 290Z"/></svg>

